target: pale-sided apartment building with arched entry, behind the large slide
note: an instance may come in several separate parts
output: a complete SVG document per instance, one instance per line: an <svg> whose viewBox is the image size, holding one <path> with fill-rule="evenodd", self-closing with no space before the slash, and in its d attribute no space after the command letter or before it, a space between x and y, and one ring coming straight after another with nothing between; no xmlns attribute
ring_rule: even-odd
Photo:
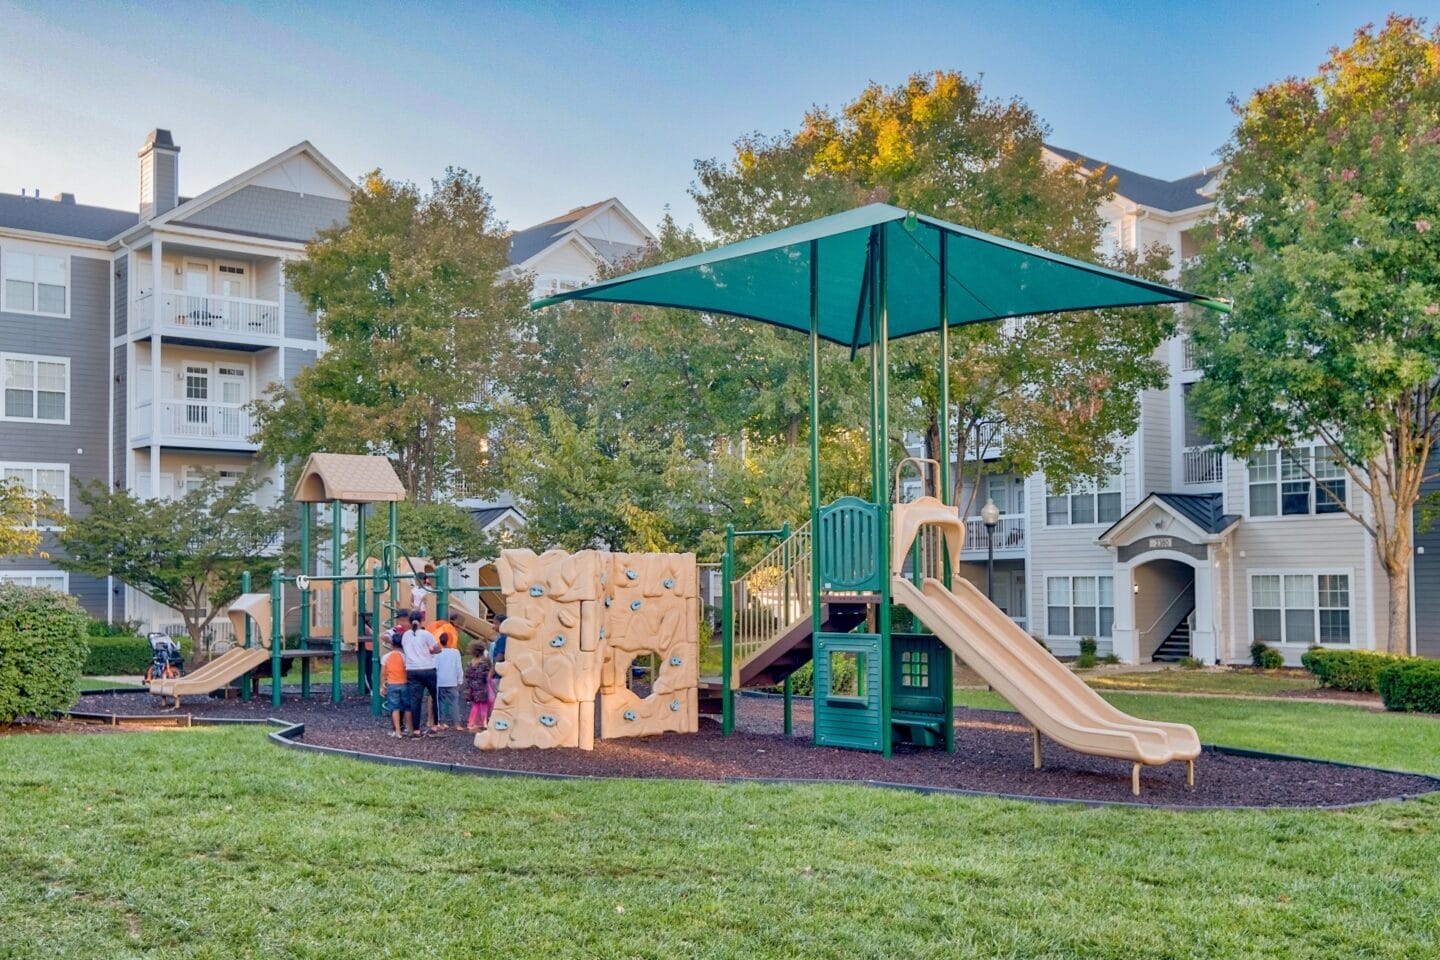
<svg viewBox="0 0 1440 960"><path fill-rule="evenodd" d="M1048 151L1054 163L1092 166L1073 151ZM1106 252L1164 243L1176 261L1194 253L1191 230L1212 210L1217 170L1174 181L1113 164L1107 171L1117 183L1103 210ZM1143 394L1113 476L1080 486L1044 475L984 479L976 512L986 499L1001 511L995 602L1060 655L1079 652L1081 638L1126 662L1243 664L1257 639L1287 664L1313 643L1384 649L1387 581L1374 541L1331 492L1361 510L1367 499L1346 489L1319 443L1248 462L1221 456L1188 410L1201 374L1187 338L1164 344L1159 358L1169 381ZM975 517L962 574L982 587L986 547ZM1440 583L1440 560L1423 550L1418 577ZM1440 626L1418 623L1413 646L1440 655Z"/></svg>

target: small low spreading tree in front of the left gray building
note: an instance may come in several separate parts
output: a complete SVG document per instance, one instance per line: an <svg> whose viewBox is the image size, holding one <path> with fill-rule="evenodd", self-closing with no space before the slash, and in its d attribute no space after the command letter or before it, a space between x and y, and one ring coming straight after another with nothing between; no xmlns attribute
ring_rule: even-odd
<svg viewBox="0 0 1440 960"><path fill-rule="evenodd" d="M79 517L59 534L65 570L115 577L184 619L197 645L216 613L240 594L240 574L259 589L282 564L282 507L259 507L265 479L246 475L233 484L206 474L179 499L140 499L102 481L81 485Z"/></svg>

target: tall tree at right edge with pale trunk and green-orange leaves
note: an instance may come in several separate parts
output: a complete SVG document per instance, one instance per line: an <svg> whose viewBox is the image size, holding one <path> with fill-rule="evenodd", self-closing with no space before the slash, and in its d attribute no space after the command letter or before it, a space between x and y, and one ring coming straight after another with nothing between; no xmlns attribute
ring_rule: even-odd
<svg viewBox="0 0 1440 960"><path fill-rule="evenodd" d="M1234 314L1194 325L1197 413L1234 456L1286 450L1374 537L1401 653L1413 515L1440 433L1440 29L1362 27L1316 76L1234 109L1191 273ZM1319 462L1287 452L1302 445ZM1364 497L1341 495L1345 481Z"/></svg>

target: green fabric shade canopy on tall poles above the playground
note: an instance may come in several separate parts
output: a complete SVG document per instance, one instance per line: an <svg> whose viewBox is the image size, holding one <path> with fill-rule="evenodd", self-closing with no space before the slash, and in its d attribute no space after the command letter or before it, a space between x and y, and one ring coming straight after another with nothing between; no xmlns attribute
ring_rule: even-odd
<svg viewBox="0 0 1440 960"><path fill-rule="evenodd" d="M883 240L880 235L883 233ZM681 307L811 328L811 250L816 250L819 335L868 344L867 276L873 246L886 248L890 338L940 327L940 245L945 245L950 325L1103 307L1223 302L1050 253L1024 243L916 216L887 203L661 263L537 299L539 309L572 299Z"/></svg>

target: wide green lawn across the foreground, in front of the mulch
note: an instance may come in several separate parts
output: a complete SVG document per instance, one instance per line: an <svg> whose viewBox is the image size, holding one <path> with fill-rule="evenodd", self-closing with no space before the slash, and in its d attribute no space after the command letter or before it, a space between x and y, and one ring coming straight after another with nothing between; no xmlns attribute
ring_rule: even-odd
<svg viewBox="0 0 1440 960"><path fill-rule="evenodd" d="M490 780L245 728L0 738L0 797L6 957L1440 950L1436 802L1172 813Z"/></svg>

